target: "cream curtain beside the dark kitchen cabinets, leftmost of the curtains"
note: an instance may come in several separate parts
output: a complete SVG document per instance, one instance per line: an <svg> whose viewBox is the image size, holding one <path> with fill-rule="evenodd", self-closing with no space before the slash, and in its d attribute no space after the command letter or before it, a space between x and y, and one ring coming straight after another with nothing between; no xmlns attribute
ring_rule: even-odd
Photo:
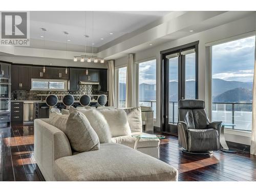
<svg viewBox="0 0 256 192"><path fill-rule="evenodd" d="M115 106L114 60L110 60L108 64L109 64L109 106Z"/></svg>

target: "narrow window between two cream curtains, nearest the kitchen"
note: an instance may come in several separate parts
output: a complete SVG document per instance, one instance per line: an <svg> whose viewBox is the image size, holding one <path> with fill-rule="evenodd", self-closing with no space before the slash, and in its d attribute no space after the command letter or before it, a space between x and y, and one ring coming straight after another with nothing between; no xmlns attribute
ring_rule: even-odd
<svg viewBox="0 0 256 192"><path fill-rule="evenodd" d="M118 69L118 107L125 108L125 101L126 101L126 69L127 67L119 68Z"/></svg>

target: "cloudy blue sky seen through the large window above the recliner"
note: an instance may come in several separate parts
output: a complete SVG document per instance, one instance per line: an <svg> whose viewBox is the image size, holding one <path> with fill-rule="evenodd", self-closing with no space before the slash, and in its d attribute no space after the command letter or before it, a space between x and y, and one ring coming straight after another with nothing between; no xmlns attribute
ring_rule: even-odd
<svg viewBox="0 0 256 192"><path fill-rule="evenodd" d="M253 81L255 36L212 46L212 78Z"/></svg>

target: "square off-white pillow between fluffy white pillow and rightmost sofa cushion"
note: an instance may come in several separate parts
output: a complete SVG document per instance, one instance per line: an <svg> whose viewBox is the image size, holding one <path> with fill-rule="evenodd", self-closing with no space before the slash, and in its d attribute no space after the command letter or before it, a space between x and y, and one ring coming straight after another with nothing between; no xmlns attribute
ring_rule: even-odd
<svg viewBox="0 0 256 192"><path fill-rule="evenodd" d="M131 135L127 115L123 110L100 110L109 124L112 137Z"/></svg>

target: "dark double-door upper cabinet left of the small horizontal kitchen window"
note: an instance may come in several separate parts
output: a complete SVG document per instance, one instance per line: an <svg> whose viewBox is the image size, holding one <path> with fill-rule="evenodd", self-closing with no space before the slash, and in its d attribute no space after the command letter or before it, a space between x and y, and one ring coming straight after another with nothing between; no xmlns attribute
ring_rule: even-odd
<svg viewBox="0 0 256 192"><path fill-rule="evenodd" d="M12 65L11 67L12 90L31 89L31 67Z"/></svg>

